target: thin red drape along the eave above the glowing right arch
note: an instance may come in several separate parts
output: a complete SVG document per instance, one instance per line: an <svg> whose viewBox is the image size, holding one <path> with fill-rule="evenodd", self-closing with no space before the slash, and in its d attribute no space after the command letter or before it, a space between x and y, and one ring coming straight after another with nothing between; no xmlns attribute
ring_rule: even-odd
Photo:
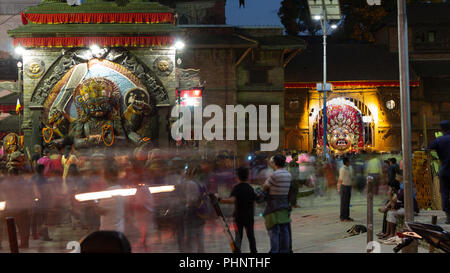
<svg viewBox="0 0 450 273"><path fill-rule="evenodd" d="M399 81L345 81L345 82L331 82L336 87L400 87ZM419 86L418 81L410 81L409 86ZM285 88L316 88L315 82L288 82L284 84Z"/></svg>

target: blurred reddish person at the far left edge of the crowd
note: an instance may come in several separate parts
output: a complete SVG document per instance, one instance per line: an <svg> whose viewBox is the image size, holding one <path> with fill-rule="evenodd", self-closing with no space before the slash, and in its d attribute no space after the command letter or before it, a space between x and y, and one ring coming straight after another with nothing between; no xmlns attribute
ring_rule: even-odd
<svg viewBox="0 0 450 273"><path fill-rule="evenodd" d="M19 248L29 248L31 210L33 206L32 184L20 177L18 168L8 170L3 191L6 197L6 217L14 217L19 232Z"/></svg>

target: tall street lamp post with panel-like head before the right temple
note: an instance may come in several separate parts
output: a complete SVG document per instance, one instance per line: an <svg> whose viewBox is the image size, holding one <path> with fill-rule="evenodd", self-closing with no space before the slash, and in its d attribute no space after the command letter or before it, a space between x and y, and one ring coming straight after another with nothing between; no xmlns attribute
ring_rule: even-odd
<svg viewBox="0 0 450 273"><path fill-rule="evenodd" d="M328 34L328 19L340 20L341 10L339 0L308 0L309 10L311 16L315 20L320 20L320 26L323 33L323 82L318 84L317 91L323 92L323 109L322 109L322 124L323 124L323 156L327 158L327 91L331 91L331 85L327 84L327 34ZM331 25L336 28L336 25Z"/></svg>

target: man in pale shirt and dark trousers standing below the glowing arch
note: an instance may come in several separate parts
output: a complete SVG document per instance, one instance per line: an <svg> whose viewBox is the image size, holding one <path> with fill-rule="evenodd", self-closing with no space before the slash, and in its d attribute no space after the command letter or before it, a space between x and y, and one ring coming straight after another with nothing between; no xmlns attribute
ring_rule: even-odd
<svg viewBox="0 0 450 273"><path fill-rule="evenodd" d="M344 157L342 159L343 166L339 170L339 179L337 184L337 191L341 195L341 213L340 219L343 222L353 221L350 218L350 198L352 194L352 183L353 183L353 170L350 166L350 159Z"/></svg>

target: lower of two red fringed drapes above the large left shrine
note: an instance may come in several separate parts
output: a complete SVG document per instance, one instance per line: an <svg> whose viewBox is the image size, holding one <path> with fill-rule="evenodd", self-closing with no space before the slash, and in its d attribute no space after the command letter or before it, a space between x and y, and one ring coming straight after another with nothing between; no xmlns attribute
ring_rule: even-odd
<svg viewBox="0 0 450 273"><path fill-rule="evenodd" d="M32 37L14 38L14 46L23 47L85 47L98 46L149 47L173 44L173 36L142 37Z"/></svg>

